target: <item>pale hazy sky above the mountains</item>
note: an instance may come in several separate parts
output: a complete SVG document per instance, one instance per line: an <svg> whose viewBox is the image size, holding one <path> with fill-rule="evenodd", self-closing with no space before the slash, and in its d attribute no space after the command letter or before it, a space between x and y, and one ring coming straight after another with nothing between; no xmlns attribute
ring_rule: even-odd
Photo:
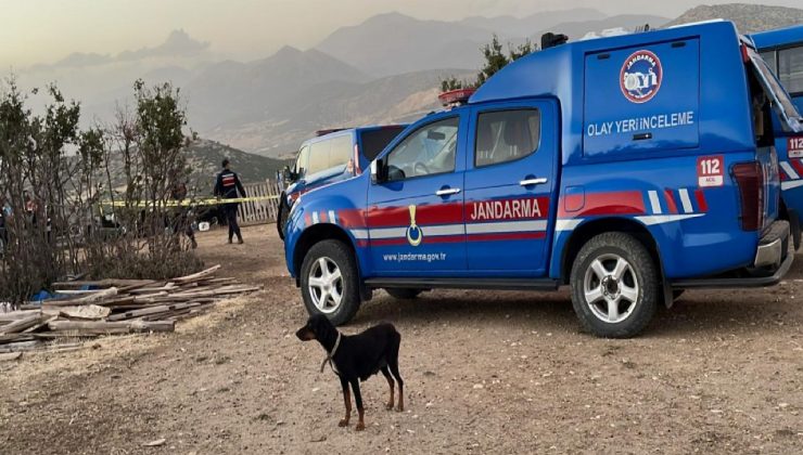
<svg viewBox="0 0 803 455"><path fill-rule="evenodd" d="M736 0L731 0L736 1ZM738 0L800 6L800 0ZM526 15L596 8L608 14L676 16L711 0L0 0L0 66L52 63L72 52L115 54L161 43L183 28L238 58L267 56L283 44L315 46L344 25L398 11L419 18Z"/></svg>

